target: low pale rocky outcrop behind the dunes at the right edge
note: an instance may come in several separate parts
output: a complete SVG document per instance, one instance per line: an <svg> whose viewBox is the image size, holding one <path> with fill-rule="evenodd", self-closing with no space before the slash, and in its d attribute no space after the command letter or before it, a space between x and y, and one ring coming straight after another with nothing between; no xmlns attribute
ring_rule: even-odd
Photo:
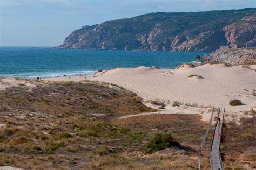
<svg viewBox="0 0 256 170"><path fill-rule="evenodd" d="M205 55L200 61L228 63L233 66L255 64L256 48L217 49L215 53Z"/></svg>

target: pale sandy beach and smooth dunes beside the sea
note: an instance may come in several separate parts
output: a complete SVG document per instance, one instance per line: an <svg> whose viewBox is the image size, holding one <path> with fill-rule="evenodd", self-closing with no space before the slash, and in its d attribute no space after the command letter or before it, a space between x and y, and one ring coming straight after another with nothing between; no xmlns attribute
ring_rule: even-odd
<svg viewBox="0 0 256 170"><path fill-rule="evenodd" d="M248 111L256 105L252 90L256 89L256 65L228 67L223 64L178 69L156 67L116 68L86 77L56 77L46 81L100 81L114 83L143 98L159 98L224 107L230 112ZM203 78L190 75L200 75ZM239 99L236 107L229 101Z"/></svg>

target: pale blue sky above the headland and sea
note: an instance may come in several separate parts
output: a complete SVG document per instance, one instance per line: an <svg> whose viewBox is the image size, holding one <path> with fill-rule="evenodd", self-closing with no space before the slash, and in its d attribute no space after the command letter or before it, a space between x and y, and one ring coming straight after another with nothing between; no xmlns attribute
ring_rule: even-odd
<svg viewBox="0 0 256 170"><path fill-rule="evenodd" d="M0 0L0 46L57 46L84 25L151 12L255 7L256 0Z"/></svg>

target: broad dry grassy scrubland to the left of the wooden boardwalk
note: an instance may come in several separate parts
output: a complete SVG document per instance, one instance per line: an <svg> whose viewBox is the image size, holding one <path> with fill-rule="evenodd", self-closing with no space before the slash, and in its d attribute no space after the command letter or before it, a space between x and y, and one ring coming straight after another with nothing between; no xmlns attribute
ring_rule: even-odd
<svg viewBox="0 0 256 170"><path fill-rule="evenodd" d="M0 91L0 166L25 169L196 169L206 123L195 115L119 116L155 111L109 84L52 83ZM103 115L95 117L93 115ZM123 122L124 121L124 122ZM129 121L129 122L126 122ZM179 127L179 128L177 128ZM157 131L152 131L157 129ZM180 146L149 154L154 134Z"/></svg>

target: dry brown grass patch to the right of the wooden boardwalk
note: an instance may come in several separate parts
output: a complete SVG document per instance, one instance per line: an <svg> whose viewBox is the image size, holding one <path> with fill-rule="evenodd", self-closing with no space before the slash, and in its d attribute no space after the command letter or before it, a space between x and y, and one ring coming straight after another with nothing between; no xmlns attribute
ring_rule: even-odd
<svg viewBox="0 0 256 170"><path fill-rule="evenodd" d="M221 153L225 169L256 168L256 130L253 119L242 119L238 126L225 124Z"/></svg>

